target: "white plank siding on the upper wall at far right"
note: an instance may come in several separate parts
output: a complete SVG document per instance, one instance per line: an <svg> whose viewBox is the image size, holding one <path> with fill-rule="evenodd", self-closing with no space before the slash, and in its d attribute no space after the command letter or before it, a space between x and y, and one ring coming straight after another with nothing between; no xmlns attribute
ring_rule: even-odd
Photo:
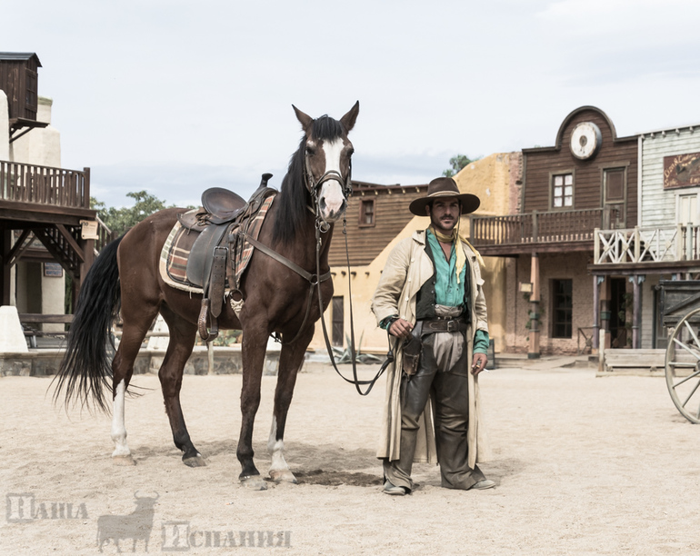
<svg viewBox="0 0 700 556"><path fill-rule="evenodd" d="M698 186L664 189L664 157L700 152L700 130L697 128L685 127L642 135L643 227L664 227L676 223L676 197L700 192Z"/></svg>

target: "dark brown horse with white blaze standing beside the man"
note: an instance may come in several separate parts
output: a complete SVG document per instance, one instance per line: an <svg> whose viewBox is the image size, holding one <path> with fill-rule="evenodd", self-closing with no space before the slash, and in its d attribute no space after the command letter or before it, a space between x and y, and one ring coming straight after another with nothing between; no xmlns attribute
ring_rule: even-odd
<svg viewBox="0 0 700 556"><path fill-rule="evenodd" d="M354 148L347 134L359 113L359 102L339 121L327 115L314 119L292 107L303 136L265 216L257 243L268 251L284 253L287 263L293 264L280 263L255 248L239 286L245 300L243 308L236 315L232 305L225 303L218 317L220 328L243 331L242 420L236 456L241 464L240 482L254 490L266 489L255 467L253 427L260 404L265 348L273 333L281 336L282 348L267 442L272 457L269 476L275 482L296 482L284 456L286 416L296 374L314 335L315 322L322 317L320 305L325 310L333 296L332 280L320 280L319 276L330 276L328 250L333 224L345 213L351 192ZM180 404L183 369L195 345L202 295L167 285L158 270L167 236L178 214L185 210L165 209L148 216L97 256L78 295L65 357L56 372L54 399L65 391L66 407L71 402L82 402L90 409L95 406L108 412L105 390L111 389L115 462L134 463L126 442L125 392L141 343L160 313L170 340L158 378L173 440L183 452L186 465L205 465L205 458L187 432ZM294 265L313 277L302 277L291 268ZM321 301L312 304L311 295ZM120 313L122 339L110 362L112 323Z"/></svg>

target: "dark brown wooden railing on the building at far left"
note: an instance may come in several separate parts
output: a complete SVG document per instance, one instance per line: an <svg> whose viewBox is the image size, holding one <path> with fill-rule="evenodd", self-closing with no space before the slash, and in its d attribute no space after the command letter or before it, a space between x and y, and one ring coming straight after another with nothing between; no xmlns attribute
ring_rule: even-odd
<svg viewBox="0 0 700 556"><path fill-rule="evenodd" d="M0 201L90 208L90 169L65 170L0 160Z"/></svg>

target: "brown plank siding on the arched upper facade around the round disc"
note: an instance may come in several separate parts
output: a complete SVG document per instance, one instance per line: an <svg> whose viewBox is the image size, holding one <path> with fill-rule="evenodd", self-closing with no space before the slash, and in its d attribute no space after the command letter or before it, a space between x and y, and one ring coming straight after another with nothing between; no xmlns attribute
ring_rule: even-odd
<svg viewBox="0 0 700 556"><path fill-rule="evenodd" d="M576 124L593 122L603 140L600 151L587 160L579 160L569 149ZM574 174L573 206L562 210L597 209L604 206L604 171L625 168L625 211L622 223L636 223L637 218L637 140L617 137L615 126L602 111L584 106L569 114L557 134L553 147L523 149L525 213L557 210L552 205L551 181L554 174Z"/></svg>

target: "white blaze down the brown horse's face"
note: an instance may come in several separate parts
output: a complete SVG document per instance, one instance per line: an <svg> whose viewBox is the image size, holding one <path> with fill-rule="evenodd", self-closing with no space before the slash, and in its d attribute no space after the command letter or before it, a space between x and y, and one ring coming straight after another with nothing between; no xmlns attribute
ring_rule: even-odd
<svg viewBox="0 0 700 556"><path fill-rule="evenodd" d="M348 175L353 145L347 139L344 140L338 137L333 141L324 141L321 144L320 151L323 152L323 157L325 158L325 169L317 174L316 178L328 172L334 172L343 177ZM317 154L320 154L320 152L317 152ZM321 188L318 191L318 206L321 218L325 222L335 222L340 218L345 213L346 205L344 184L341 184L337 179L330 179L321 184Z"/></svg>

